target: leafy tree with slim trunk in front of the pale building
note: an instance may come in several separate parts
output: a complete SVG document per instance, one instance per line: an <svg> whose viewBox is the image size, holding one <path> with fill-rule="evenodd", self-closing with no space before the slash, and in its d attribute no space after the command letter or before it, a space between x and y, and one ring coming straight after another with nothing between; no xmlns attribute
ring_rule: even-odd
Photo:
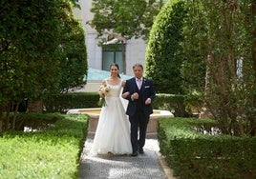
<svg viewBox="0 0 256 179"><path fill-rule="evenodd" d="M88 24L98 36L117 33L126 40L147 40L153 21L163 5L162 0L94 0L94 19ZM121 41L123 70L126 70L125 44ZM124 71L125 72L125 71Z"/></svg>

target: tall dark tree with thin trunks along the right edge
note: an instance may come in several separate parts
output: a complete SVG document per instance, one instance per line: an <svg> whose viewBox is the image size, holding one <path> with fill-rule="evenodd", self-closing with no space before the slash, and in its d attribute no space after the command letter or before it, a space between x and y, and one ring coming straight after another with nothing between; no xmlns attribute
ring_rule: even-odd
<svg viewBox="0 0 256 179"><path fill-rule="evenodd" d="M201 88L205 107L220 122L222 131L231 135L255 135L252 2L187 2L183 47L188 59L185 67L189 68L184 74L194 71L201 76L193 59L204 66L206 81Z"/></svg>

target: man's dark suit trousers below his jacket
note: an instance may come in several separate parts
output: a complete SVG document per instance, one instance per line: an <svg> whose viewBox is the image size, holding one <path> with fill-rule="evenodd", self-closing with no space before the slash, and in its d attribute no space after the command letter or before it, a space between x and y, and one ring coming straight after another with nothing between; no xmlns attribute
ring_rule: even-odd
<svg viewBox="0 0 256 179"><path fill-rule="evenodd" d="M131 123L131 143L133 151L143 148L146 139L146 130L149 117L145 116L143 110L138 110L134 116L129 116ZM139 139L138 139L139 129Z"/></svg>

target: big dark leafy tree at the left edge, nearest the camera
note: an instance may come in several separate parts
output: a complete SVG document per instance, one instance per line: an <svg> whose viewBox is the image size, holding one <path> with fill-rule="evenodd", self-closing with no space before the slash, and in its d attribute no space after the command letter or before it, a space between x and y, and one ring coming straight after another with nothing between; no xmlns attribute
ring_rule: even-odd
<svg viewBox="0 0 256 179"><path fill-rule="evenodd" d="M63 21L72 5L75 1L0 2L0 131L15 129L17 108L25 97L59 92ZM17 106L10 121L12 102Z"/></svg>

